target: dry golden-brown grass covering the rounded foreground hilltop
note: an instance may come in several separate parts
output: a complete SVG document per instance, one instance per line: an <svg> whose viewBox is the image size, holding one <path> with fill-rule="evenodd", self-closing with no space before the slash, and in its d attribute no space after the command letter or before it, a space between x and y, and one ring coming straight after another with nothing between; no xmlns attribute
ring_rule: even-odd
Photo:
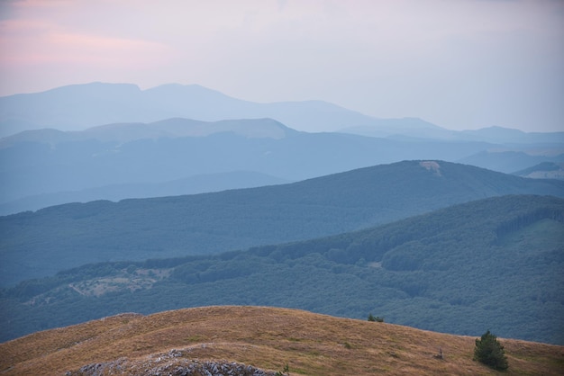
<svg viewBox="0 0 564 376"><path fill-rule="evenodd" d="M120 315L0 344L0 374L60 375L90 363L179 349L190 358L305 375L488 375L474 337L333 318L295 309L206 307ZM506 374L561 375L564 347L500 339ZM433 357L442 348L444 360Z"/></svg>

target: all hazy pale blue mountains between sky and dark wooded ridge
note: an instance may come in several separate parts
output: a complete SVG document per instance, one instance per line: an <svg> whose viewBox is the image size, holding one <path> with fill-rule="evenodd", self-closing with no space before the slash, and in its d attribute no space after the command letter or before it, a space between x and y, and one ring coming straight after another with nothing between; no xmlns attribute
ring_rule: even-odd
<svg viewBox="0 0 564 376"><path fill-rule="evenodd" d="M141 90L94 83L0 97L0 135L0 214L70 201L202 192L197 184L184 184L184 191L155 187L201 181L203 175L248 172L233 184L209 179L203 185L214 192L407 159L504 173L564 162L564 132L445 130L319 101L250 103L198 85Z"/></svg>

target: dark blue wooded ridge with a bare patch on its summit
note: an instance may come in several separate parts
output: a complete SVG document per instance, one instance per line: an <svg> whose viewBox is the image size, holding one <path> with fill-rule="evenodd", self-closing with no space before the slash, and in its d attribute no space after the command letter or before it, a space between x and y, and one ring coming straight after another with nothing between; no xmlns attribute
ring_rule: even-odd
<svg viewBox="0 0 564 376"><path fill-rule="evenodd" d="M504 194L564 197L564 182L405 161L296 184L59 205L0 217L0 286L88 263L323 237Z"/></svg>

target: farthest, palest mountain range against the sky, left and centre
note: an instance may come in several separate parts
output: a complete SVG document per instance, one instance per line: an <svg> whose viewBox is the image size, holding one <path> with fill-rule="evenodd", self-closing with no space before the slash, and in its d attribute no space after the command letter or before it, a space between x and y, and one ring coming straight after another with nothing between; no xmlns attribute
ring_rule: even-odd
<svg viewBox="0 0 564 376"><path fill-rule="evenodd" d="M0 97L0 136L22 130L85 130L116 122L169 118L199 121L272 118L296 130L340 130L373 118L322 101L252 103L199 85L68 85L35 94Z"/></svg>

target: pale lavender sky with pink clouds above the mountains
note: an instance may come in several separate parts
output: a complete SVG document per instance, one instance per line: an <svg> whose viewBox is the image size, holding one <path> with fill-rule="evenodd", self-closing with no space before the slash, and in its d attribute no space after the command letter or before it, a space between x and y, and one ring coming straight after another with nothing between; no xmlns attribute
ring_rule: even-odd
<svg viewBox="0 0 564 376"><path fill-rule="evenodd" d="M89 82L564 130L564 0L0 0L0 95Z"/></svg>

